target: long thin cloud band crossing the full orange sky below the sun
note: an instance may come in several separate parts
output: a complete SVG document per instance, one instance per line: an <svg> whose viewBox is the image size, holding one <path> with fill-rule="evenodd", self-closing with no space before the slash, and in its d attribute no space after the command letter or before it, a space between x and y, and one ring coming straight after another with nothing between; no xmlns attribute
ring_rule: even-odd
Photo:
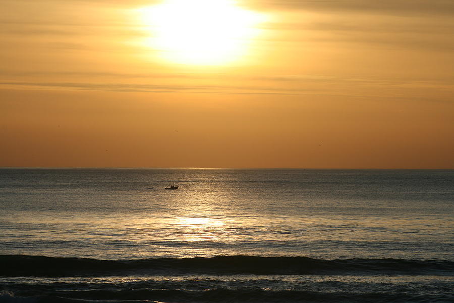
<svg viewBox="0 0 454 303"><path fill-rule="evenodd" d="M238 80L238 79L237 79ZM436 80L383 80L373 78L342 78L314 75L282 75L244 77L250 85L240 84L136 84L110 82L38 82L4 81L0 88L17 89L65 89L111 92L152 92L152 93L219 93L219 94L295 94L295 95L350 95L385 96L396 92L411 91L415 88L454 92L454 83ZM264 84L260 82L269 82ZM291 83L292 85L287 85ZM383 88L370 90L370 88Z"/></svg>

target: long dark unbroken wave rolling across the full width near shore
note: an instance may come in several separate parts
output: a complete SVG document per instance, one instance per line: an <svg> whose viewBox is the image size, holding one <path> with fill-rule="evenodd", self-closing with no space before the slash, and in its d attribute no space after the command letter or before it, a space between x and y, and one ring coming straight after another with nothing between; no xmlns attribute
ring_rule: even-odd
<svg viewBox="0 0 454 303"><path fill-rule="evenodd" d="M0 276L73 277L113 275L452 275L454 262L404 259L338 259L307 257L217 256L96 260L43 256L0 256Z"/></svg>

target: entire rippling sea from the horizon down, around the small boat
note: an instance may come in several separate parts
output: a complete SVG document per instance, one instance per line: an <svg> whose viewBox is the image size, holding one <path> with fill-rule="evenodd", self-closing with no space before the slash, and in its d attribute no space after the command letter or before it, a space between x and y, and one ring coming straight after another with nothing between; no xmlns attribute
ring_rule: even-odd
<svg viewBox="0 0 454 303"><path fill-rule="evenodd" d="M452 170L0 169L0 302L452 302L453 203Z"/></svg>

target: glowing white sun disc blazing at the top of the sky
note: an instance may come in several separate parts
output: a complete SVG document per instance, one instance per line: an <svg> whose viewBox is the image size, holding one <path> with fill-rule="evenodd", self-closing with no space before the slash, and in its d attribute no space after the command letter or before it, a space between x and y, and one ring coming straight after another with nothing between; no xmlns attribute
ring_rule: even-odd
<svg viewBox="0 0 454 303"><path fill-rule="evenodd" d="M263 21L231 0L167 0L140 13L151 33L147 44L166 60L194 65L237 60Z"/></svg>

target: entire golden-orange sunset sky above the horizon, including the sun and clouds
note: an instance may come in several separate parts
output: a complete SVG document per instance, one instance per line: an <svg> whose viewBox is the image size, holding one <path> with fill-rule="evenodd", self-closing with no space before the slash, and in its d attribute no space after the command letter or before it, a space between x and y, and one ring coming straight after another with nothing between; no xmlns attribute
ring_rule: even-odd
<svg viewBox="0 0 454 303"><path fill-rule="evenodd" d="M454 169L452 0L0 5L0 167Z"/></svg>

